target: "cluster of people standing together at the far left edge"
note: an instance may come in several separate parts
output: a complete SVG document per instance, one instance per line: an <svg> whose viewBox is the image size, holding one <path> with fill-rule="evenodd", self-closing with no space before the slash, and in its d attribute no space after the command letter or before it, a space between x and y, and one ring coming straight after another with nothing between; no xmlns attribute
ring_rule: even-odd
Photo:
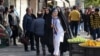
<svg viewBox="0 0 100 56"><path fill-rule="evenodd" d="M4 7L4 0L0 0L0 24L4 26L8 33L9 39L13 39L13 45L16 46L18 37L19 17L14 13L14 6Z"/></svg>

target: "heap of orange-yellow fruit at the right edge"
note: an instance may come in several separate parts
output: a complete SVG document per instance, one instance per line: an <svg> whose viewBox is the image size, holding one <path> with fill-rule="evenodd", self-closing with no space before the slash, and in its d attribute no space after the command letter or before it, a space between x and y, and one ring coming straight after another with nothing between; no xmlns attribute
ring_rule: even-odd
<svg viewBox="0 0 100 56"><path fill-rule="evenodd" d="M86 47L100 47L100 41L96 40L87 40L84 43L80 44L81 46L86 46Z"/></svg>

